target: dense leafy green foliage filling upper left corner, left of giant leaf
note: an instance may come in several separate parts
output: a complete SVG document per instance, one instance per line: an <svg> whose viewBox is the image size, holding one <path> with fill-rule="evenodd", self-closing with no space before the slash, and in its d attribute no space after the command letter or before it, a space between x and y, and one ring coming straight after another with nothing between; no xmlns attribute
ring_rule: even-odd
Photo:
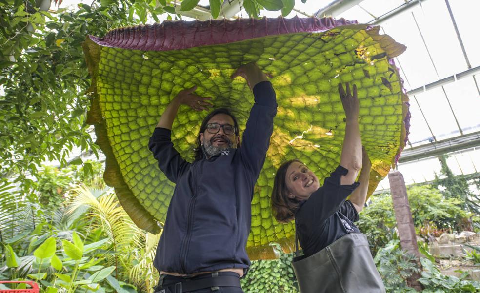
<svg viewBox="0 0 480 293"><path fill-rule="evenodd" d="M180 6L172 0L94 0L72 11L55 11L51 0L1 0L0 174L28 185L27 173L34 175L45 159L66 165L73 147L97 152L85 124L90 80L81 43L86 35L101 36L149 19L159 22L161 14L178 19L180 10L191 10L198 2L183 0ZM244 2L253 17L262 8L290 12L294 4ZM214 16L221 14L221 3L210 1Z"/></svg>

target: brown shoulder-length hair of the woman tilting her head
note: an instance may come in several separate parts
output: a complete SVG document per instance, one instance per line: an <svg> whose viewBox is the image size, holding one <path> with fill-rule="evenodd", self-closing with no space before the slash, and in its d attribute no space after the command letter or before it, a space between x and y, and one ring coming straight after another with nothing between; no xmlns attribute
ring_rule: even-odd
<svg viewBox="0 0 480 293"><path fill-rule="evenodd" d="M303 164L297 159L284 162L281 164L279 170L277 170L277 174L275 174L275 179L273 181L273 190L270 202L272 205L273 215L280 223L288 223L295 219L295 212L299 207L299 201L297 199L288 197L289 191L285 181L287 169L293 162L299 162Z"/></svg>

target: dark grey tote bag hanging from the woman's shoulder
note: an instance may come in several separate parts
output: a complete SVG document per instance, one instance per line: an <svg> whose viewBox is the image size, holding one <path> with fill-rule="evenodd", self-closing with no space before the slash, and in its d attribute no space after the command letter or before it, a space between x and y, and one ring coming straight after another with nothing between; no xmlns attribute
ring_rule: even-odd
<svg viewBox="0 0 480 293"><path fill-rule="evenodd" d="M309 257L297 256L292 265L300 293L385 293L362 233L346 234Z"/></svg>

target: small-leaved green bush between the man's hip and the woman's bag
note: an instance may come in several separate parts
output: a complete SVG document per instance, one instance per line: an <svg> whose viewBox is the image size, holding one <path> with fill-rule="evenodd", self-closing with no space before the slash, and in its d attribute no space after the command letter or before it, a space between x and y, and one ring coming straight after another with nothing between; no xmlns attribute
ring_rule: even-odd
<svg viewBox="0 0 480 293"><path fill-rule="evenodd" d="M280 247L275 247L280 254L276 260L254 260L248 274L242 279L245 293L282 292L297 293L298 285L292 268L292 254L285 254Z"/></svg>

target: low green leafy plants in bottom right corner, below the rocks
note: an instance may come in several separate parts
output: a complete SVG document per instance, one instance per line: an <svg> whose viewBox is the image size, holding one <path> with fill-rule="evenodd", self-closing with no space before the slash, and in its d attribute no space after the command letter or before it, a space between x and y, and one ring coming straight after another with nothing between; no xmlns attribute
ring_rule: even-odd
<svg viewBox="0 0 480 293"><path fill-rule="evenodd" d="M467 293L479 292L480 283L477 281L468 281L465 278L467 272L463 272L459 277L446 276L440 273L439 269L427 258L420 259L423 266L420 283L424 286L423 293Z"/></svg>

